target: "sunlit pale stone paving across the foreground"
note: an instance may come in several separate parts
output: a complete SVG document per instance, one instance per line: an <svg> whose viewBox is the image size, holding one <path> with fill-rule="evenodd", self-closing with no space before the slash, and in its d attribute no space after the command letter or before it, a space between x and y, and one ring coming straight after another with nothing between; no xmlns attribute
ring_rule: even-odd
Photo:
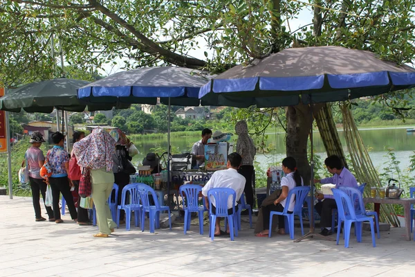
<svg viewBox="0 0 415 277"><path fill-rule="evenodd" d="M42 210L44 213L44 209ZM415 242L404 229L382 232L371 247L352 237L350 248L324 240L295 243L287 235L255 238L248 224L239 238L208 238L198 226L150 234L132 227L93 238L93 226L35 222L31 199L0 197L0 276L409 276ZM295 230L295 237L301 235Z"/></svg>

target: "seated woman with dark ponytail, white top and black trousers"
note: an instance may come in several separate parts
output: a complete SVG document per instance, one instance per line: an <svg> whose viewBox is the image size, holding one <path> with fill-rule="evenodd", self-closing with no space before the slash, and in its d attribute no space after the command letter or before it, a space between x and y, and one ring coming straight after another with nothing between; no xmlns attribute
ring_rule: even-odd
<svg viewBox="0 0 415 277"><path fill-rule="evenodd" d="M287 196L290 190L296 186L303 186L303 179L297 170L297 163L293 157L286 157L282 160L282 170L286 176L281 179L282 193L277 199L275 199L273 204L268 206L262 206L262 216L264 221L264 231L257 233L257 237L268 237L269 225L270 225L270 213L272 211L282 212L286 205L288 206L288 213L293 213L295 199L291 197L290 203L287 203ZM284 216L278 215L278 233L284 235L285 226L284 226Z"/></svg>

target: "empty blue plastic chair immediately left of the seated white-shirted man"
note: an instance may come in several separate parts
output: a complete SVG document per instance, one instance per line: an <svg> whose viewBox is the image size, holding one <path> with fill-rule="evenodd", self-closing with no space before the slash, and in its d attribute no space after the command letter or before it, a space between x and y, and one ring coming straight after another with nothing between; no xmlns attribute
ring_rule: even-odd
<svg viewBox="0 0 415 277"><path fill-rule="evenodd" d="M202 199L203 206L199 206L199 193L202 192L202 186L183 185L179 189L183 199L183 210L185 210L185 234L190 229L192 213L199 215L199 233L203 235L203 212L208 211L205 202Z"/></svg>

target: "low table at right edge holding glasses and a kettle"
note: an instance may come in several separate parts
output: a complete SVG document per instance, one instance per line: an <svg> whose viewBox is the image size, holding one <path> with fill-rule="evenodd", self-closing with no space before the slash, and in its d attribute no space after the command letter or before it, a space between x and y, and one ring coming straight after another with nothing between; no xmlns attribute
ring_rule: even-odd
<svg viewBox="0 0 415 277"><path fill-rule="evenodd" d="M374 210L380 213L380 204L398 204L403 206L405 217L405 231L407 240L411 240L411 205L415 204L415 198L387 198L385 197L386 188L372 187L370 191L371 197L363 198L365 204L374 203Z"/></svg>

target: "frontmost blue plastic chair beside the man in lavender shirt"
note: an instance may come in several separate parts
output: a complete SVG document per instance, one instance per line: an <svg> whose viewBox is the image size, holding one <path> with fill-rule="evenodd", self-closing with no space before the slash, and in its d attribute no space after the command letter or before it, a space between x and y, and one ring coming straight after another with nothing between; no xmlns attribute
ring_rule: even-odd
<svg viewBox="0 0 415 277"><path fill-rule="evenodd" d="M349 190L354 190L354 188L347 188ZM358 190L356 190L358 191ZM362 230L361 225L362 222L368 221L371 226L371 238L374 247L376 247L375 241L375 231L374 231L374 220L371 217L368 217L364 214L356 214L355 212L355 204L352 199L350 199L347 193L344 193L342 189L333 188L333 196L335 199L335 203L338 206L338 215L339 215L339 228L337 232L337 241L336 244L339 244L340 239L340 226L342 226L342 222L344 222L344 247L349 247L349 240L350 240L350 231L351 231L351 224L355 222L357 228L357 239L358 242L362 241ZM352 203L353 202L353 203ZM359 227L360 226L360 227Z"/></svg>

